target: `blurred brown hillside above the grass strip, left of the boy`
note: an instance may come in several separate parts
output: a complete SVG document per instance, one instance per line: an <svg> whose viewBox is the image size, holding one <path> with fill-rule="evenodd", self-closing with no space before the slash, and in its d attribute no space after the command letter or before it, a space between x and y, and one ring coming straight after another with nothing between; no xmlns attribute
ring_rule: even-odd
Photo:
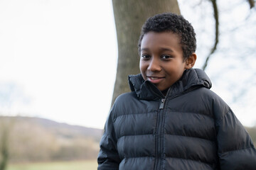
<svg viewBox="0 0 256 170"><path fill-rule="evenodd" d="M102 136L100 129L21 116L0 116L0 143L3 130L11 162L95 159Z"/></svg>

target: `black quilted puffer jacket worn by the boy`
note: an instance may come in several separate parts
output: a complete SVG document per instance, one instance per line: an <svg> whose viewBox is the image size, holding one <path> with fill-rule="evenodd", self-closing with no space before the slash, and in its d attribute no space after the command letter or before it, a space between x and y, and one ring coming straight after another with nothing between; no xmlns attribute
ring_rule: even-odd
<svg viewBox="0 0 256 170"><path fill-rule="evenodd" d="M256 169L250 136L202 70L185 71L166 97L140 74L129 84L107 119L98 169Z"/></svg>

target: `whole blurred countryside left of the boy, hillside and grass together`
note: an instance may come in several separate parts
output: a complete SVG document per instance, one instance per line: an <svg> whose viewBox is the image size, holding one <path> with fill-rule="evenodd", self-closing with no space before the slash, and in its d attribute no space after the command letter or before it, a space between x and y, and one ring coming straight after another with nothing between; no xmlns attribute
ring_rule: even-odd
<svg viewBox="0 0 256 170"><path fill-rule="evenodd" d="M97 169L102 130L53 120L0 116L0 169Z"/></svg>

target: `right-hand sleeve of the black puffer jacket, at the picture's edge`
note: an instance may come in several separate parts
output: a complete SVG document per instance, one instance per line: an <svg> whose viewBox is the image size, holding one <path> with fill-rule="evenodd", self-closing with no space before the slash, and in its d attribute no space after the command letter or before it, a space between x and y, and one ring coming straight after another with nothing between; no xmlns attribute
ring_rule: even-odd
<svg viewBox="0 0 256 170"><path fill-rule="evenodd" d="M233 111L216 123L218 156L221 170L256 169L256 150L253 142Z"/></svg>

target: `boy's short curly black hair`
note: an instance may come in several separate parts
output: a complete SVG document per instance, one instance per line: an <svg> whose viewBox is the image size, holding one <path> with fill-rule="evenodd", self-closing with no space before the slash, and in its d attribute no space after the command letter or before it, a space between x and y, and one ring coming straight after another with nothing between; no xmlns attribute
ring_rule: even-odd
<svg viewBox="0 0 256 170"><path fill-rule="evenodd" d="M154 31L156 33L169 32L177 33L181 38L181 47L184 60L196 52L196 33L191 23L183 16L175 13L160 13L146 20L142 26L139 37L138 50L140 53L142 39L146 33Z"/></svg>

